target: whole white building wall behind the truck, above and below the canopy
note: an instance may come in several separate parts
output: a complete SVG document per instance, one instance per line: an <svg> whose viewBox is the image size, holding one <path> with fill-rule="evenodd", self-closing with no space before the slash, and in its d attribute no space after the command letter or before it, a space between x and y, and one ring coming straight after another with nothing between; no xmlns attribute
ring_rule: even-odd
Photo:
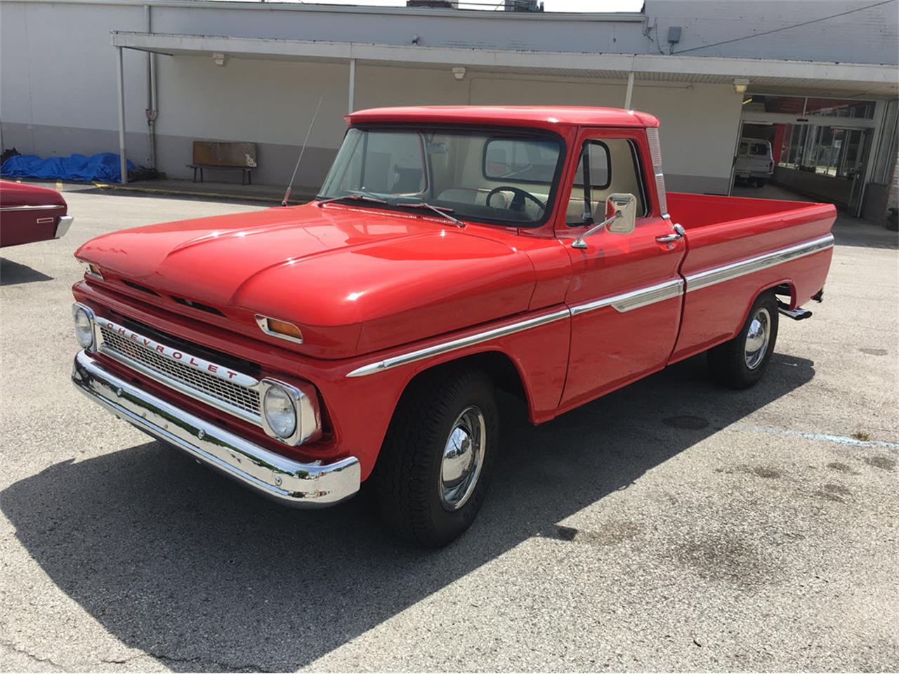
<svg viewBox="0 0 899 674"><path fill-rule="evenodd" d="M320 9L300 4L152 4L160 32L391 41L426 46L653 52L667 26L681 25L678 53L733 40L784 22L848 11L856 0L752 3L734 0L647 0L645 26L633 17ZM882 62L896 57L896 3L853 13L851 21L729 41L697 56L823 58ZM873 12L873 13L872 13ZM698 18L700 17L701 18ZM613 17L614 18L614 17ZM111 31L146 31L143 4L0 2L0 125L4 147L43 156L118 151L116 77ZM76 36L76 37L75 37ZM147 164L147 55L126 50L129 159ZM345 63L157 56L157 166L188 177L194 139L250 141L259 146L258 182L281 183L292 170L318 95L325 102L310 137L298 185L316 187L343 136L349 67ZM449 68L380 67L360 62L357 109L415 103L552 103L621 106L625 82L558 76L452 78ZM729 84L637 80L632 107L662 120L663 152L673 190L725 191L741 109ZM222 174L227 176L227 174ZM230 176L227 176L230 177Z"/></svg>

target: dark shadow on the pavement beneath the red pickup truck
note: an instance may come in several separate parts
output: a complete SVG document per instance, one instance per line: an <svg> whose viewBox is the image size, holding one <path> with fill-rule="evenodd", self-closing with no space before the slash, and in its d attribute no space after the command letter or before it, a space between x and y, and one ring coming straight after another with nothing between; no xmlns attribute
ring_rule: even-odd
<svg viewBox="0 0 899 674"><path fill-rule="evenodd" d="M542 426L512 423L484 510L442 550L385 533L364 494L284 509L156 442L50 466L0 508L127 646L177 671L292 671L530 537L570 539L561 520L803 386L813 365L776 354L760 386L734 392L700 357Z"/></svg>

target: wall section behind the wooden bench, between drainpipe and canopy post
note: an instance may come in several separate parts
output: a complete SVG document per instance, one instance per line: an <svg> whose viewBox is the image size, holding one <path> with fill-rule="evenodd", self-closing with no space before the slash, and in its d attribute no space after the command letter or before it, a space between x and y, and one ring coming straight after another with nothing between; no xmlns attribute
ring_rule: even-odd
<svg viewBox="0 0 899 674"><path fill-rule="evenodd" d="M286 183L306 137L318 97L325 94L297 183L316 187L343 137L349 66L229 58L156 58L156 160L170 177L187 178L194 140L253 142L259 168L254 182ZM210 180L236 180L209 172Z"/></svg>

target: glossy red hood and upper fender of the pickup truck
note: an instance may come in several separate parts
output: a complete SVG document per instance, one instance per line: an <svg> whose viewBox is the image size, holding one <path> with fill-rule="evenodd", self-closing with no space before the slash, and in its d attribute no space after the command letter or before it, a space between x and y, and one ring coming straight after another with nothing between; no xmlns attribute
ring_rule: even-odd
<svg viewBox="0 0 899 674"><path fill-rule="evenodd" d="M261 338L254 315L289 321L303 344L265 339L344 358L526 310L535 273L515 238L440 217L307 204L128 229L76 256L107 283L152 289L174 310L209 319L183 300L213 307Z"/></svg>

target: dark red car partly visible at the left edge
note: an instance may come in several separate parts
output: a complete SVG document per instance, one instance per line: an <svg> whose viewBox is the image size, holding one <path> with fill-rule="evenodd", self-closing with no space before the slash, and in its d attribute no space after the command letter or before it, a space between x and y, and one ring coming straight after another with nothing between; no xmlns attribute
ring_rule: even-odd
<svg viewBox="0 0 899 674"><path fill-rule="evenodd" d="M66 200L56 190L0 181L0 247L49 241L72 225Z"/></svg>

